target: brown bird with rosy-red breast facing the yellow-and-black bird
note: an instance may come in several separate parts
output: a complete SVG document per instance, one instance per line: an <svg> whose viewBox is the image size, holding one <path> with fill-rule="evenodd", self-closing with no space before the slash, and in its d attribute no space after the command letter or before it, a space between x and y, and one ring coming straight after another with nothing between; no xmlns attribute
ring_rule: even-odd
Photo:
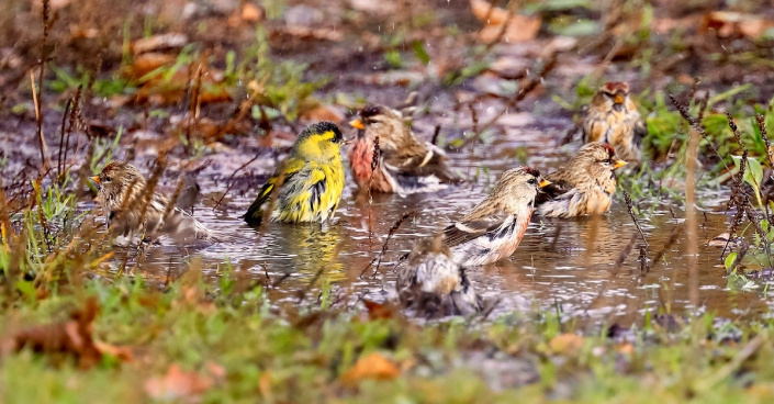
<svg viewBox="0 0 774 404"><path fill-rule="evenodd" d="M446 153L412 133L401 112L384 105L368 105L349 123L358 130L349 148L349 167L361 189L399 193L435 192L462 177L449 167ZM372 169L374 144L379 156Z"/></svg>

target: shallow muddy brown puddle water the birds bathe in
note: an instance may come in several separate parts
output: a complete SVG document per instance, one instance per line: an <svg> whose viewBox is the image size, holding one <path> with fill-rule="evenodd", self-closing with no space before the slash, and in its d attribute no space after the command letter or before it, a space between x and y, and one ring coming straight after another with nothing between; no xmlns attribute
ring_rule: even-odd
<svg viewBox="0 0 774 404"><path fill-rule="evenodd" d="M529 159L530 165L550 170L573 150L570 147L546 153L540 137L526 133L517 143L518 147L526 148L523 152L528 156L541 156ZM229 197L228 205L233 209L225 212L213 211L212 203L205 202L210 206L198 207L194 215L227 242L200 250L154 248L143 271L162 277L167 271L180 273L193 257L202 260L203 268L216 268L228 260L243 279L246 274L249 280L276 283L269 291L274 302L295 302L299 291L307 289L316 295L315 291L327 282L350 298L389 299L395 280L394 260L411 249L414 239L444 228L484 198L502 171L519 164L511 157L516 155L516 149L513 143L495 143L472 154L453 155L457 167L467 172L471 181L436 194L406 198L374 194L369 204L368 195L358 195L349 181L337 222L326 226L269 224L263 233L258 233L239 218L251 202L251 192L244 198ZM203 188L212 190L212 187ZM218 197L220 193L213 195ZM650 259L685 225L682 205L675 204L670 211L666 203L640 217L650 244L647 251ZM404 222L390 239L377 272L372 261L379 256L390 227L410 211L416 215ZM684 231L676 243L666 247L663 259L652 262L646 273L638 259L643 245L641 238L616 270L616 260L637 234L618 195L613 210L603 217L534 220L509 260L472 269L469 273L481 294L498 300L495 315L509 310L541 307L569 316L626 323L641 318L646 310L708 311L725 317L766 312L774 300L760 289L742 292L727 288L720 249L705 245L706 240L726 232L727 216L711 211L707 209L706 215L702 211L696 215L695 263L688 259L692 249L687 245L688 231ZM212 278L218 276L215 270L207 273Z"/></svg>

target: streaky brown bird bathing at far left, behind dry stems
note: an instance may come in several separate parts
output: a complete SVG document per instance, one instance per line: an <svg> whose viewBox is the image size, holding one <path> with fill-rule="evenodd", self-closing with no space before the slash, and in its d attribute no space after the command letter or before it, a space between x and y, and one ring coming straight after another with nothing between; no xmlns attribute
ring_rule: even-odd
<svg viewBox="0 0 774 404"><path fill-rule="evenodd" d="M158 191L147 194L147 181L131 164L113 161L91 179L99 186L96 201L117 245L161 238L176 244L216 240L193 216L170 206L167 197Z"/></svg>

